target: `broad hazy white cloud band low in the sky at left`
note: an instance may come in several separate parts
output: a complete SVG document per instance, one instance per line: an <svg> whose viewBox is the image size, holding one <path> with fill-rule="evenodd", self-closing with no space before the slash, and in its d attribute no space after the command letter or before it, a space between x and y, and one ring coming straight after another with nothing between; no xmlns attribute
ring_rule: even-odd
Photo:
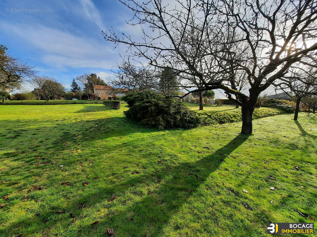
<svg viewBox="0 0 317 237"><path fill-rule="evenodd" d="M12 25L0 21L0 29L11 32L34 46L42 54L41 59L57 68L105 68L120 61L119 51L107 46L107 42L80 37L67 31L37 25Z"/></svg>

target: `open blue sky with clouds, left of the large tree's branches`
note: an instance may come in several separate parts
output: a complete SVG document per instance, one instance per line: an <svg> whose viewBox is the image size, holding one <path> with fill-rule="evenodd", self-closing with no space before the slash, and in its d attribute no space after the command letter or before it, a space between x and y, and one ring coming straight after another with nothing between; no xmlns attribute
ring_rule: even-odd
<svg viewBox="0 0 317 237"><path fill-rule="evenodd" d="M0 44L35 66L39 75L54 76L67 88L76 75L88 71L107 81L125 46L114 49L101 30L114 27L134 34L125 22L129 17L131 12L117 0L2 0Z"/></svg>

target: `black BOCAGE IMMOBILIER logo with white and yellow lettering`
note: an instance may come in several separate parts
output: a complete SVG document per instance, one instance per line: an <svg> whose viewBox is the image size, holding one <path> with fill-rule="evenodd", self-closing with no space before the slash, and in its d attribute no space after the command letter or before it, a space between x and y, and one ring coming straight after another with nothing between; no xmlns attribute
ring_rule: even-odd
<svg viewBox="0 0 317 237"><path fill-rule="evenodd" d="M314 223L266 223L267 234L314 234Z"/></svg>

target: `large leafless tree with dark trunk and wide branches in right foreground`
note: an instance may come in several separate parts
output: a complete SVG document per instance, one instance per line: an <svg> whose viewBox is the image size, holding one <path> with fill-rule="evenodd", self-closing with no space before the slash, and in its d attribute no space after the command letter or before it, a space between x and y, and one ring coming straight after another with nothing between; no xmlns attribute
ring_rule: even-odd
<svg viewBox="0 0 317 237"><path fill-rule="evenodd" d="M111 29L103 32L105 40L127 45L130 56L146 59L153 71L168 65L187 94L224 90L242 107L242 133L252 133L259 94L292 64L316 55L316 0L178 0L175 8L163 0L120 2L132 10L129 23L140 25L143 36L135 41ZM247 90L236 89L244 74Z"/></svg>

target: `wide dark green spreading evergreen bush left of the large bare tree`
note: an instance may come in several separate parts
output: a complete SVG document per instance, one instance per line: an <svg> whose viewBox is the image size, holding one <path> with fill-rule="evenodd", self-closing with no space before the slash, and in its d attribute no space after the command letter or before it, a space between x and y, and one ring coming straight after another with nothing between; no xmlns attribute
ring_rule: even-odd
<svg viewBox="0 0 317 237"><path fill-rule="evenodd" d="M200 125L197 113L190 111L181 100L165 98L153 91L131 92L122 97L129 109L126 117L149 127L193 128Z"/></svg>

